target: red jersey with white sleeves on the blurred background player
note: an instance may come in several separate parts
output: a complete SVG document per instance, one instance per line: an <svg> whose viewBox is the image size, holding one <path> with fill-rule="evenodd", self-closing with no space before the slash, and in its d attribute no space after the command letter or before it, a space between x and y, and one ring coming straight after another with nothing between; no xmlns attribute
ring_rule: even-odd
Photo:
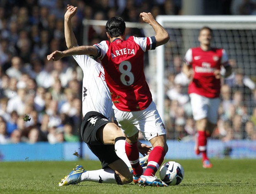
<svg viewBox="0 0 256 194"><path fill-rule="evenodd" d="M208 98L219 97L220 79L216 79L213 72L220 70L221 65L229 65L225 50L211 48L204 51L200 47L190 48L185 55L185 62L194 70L188 93L196 93Z"/></svg>

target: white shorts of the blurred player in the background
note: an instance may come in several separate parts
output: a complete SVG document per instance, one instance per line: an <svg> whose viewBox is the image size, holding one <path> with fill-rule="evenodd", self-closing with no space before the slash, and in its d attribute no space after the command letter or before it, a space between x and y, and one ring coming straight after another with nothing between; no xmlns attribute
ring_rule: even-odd
<svg viewBox="0 0 256 194"><path fill-rule="evenodd" d="M192 93L190 94L190 102L194 120L207 118L210 123L217 123L220 98L207 98Z"/></svg>

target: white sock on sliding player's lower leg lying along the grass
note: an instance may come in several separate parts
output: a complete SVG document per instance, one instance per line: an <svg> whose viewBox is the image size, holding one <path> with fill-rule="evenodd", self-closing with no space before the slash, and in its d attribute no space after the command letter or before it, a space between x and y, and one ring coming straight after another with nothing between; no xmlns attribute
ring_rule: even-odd
<svg viewBox="0 0 256 194"><path fill-rule="evenodd" d="M111 168L100 170L88 170L81 175L82 181L92 181L99 183L114 183L116 184L115 171Z"/></svg>

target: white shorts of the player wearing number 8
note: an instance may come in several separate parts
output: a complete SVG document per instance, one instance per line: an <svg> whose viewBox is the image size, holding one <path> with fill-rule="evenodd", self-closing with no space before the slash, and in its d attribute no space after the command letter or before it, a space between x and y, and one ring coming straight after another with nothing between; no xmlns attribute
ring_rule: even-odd
<svg viewBox="0 0 256 194"><path fill-rule="evenodd" d="M166 130L162 119L156 110L156 104L152 103L142 111L121 111L113 106L116 121L127 137L135 135L139 130L145 140L165 135Z"/></svg>

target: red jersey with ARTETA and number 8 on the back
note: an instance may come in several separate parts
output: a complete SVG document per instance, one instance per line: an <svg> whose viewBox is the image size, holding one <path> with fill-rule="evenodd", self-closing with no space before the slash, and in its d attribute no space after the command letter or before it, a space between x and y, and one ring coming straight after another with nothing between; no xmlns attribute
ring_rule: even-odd
<svg viewBox="0 0 256 194"><path fill-rule="evenodd" d="M144 52L156 47L155 37L116 38L112 43L102 41L98 49L112 102L121 111L146 109L152 95L144 74Z"/></svg>

